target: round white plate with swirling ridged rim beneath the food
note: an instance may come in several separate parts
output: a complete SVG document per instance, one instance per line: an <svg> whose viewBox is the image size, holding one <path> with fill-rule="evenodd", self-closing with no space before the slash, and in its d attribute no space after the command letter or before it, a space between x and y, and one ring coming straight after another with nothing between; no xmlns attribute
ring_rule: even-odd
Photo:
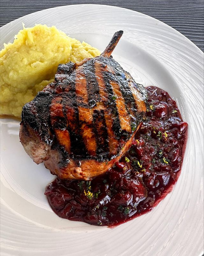
<svg viewBox="0 0 204 256"><path fill-rule="evenodd" d="M116 228L64 220L44 190L54 176L27 156L19 123L1 119L1 247L3 255L174 255L203 252L203 53L173 28L139 12L106 5L72 5L35 12L1 28L3 43L35 23L104 50L124 30L113 57L136 82L167 90L189 124L182 172L155 208Z"/></svg>

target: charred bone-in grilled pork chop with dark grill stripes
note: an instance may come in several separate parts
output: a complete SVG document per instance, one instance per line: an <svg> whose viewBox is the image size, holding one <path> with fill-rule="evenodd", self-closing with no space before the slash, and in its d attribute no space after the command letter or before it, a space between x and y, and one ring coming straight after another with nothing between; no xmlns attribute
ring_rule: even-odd
<svg viewBox="0 0 204 256"><path fill-rule="evenodd" d="M123 31L93 59L60 64L22 110L20 141L36 164L61 179L88 180L110 169L131 146L147 93L113 60Z"/></svg>

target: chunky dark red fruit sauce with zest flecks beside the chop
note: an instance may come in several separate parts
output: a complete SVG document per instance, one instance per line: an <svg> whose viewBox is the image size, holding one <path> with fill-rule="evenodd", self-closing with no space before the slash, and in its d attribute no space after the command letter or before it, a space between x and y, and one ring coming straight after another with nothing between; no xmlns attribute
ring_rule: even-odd
<svg viewBox="0 0 204 256"><path fill-rule="evenodd" d="M179 178L187 139L176 102L149 86L143 124L125 156L89 181L55 179L46 188L50 206L62 218L113 227L149 212Z"/></svg>

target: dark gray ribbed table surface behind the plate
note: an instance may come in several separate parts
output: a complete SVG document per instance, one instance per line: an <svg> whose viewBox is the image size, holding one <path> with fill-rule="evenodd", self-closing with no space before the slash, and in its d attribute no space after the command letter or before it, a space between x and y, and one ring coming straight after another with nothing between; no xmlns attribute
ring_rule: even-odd
<svg viewBox="0 0 204 256"><path fill-rule="evenodd" d="M203 0L0 0L0 26L32 12L69 4L106 4L142 12L175 28L204 51Z"/></svg>

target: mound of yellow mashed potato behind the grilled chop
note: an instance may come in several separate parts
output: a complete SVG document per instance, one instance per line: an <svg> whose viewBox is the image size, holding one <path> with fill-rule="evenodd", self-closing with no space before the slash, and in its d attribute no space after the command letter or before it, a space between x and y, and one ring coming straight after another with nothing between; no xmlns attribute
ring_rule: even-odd
<svg viewBox="0 0 204 256"><path fill-rule="evenodd" d="M60 63L78 62L100 52L56 27L23 28L0 52L0 114L20 117L22 107L54 81Z"/></svg>

